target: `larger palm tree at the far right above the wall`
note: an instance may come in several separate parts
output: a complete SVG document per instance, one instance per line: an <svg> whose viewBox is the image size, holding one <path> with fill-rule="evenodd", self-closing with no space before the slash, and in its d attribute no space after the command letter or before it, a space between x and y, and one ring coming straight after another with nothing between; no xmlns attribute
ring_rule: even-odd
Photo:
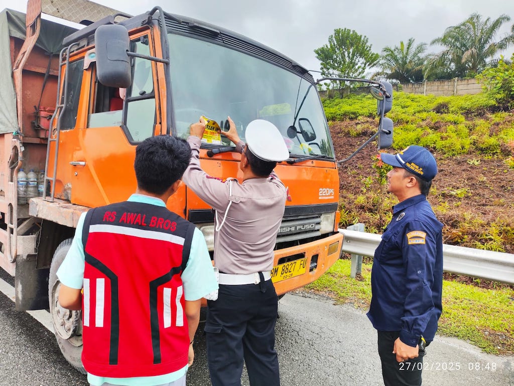
<svg viewBox="0 0 514 386"><path fill-rule="evenodd" d="M448 27L443 36L431 42L446 49L428 58L425 76L430 79L442 76L446 79L464 78L481 72L488 59L514 44L514 30L494 41L498 30L509 21L510 17L505 14L495 20L490 17L482 20L481 15L473 13L461 24Z"/></svg>

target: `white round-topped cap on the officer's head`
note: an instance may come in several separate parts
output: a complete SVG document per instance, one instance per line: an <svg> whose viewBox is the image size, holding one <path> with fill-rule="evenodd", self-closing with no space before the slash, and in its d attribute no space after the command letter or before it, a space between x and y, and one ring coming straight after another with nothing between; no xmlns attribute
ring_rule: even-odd
<svg viewBox="0 0 514 386"><path fill-rule="evenodd" d="M255 119L248 123L245 132L248 149L264 161L285 161L289 151L284 137L277 126L264 119Z"/></svg>

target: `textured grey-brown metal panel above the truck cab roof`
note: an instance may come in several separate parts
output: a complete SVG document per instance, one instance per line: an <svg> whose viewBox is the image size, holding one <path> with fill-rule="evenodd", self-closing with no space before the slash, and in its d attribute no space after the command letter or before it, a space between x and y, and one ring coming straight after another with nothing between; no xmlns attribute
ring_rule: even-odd
<svg viewBox="0 0 514 386"><path fill-rule="evenodd" d="M81 23L84 20L97 22L106 16L120 13L116 9L87 0L43 0L42 11L74 23Z"/></svg>

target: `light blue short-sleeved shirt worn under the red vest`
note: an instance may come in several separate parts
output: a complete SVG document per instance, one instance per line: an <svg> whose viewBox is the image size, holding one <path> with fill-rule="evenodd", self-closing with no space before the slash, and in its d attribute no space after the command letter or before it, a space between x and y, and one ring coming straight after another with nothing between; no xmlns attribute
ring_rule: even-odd
<svg viewBox="0 0 514 386"><path fill-rule="evenodd" d="M164 204L164 201L161 199L141 194L133 194L127 201L166 207L166 204ZM81 289L84 281L85 263L84 246L82 244L82 229L84 227L85 215L85 213L82 213L80 216L73 242L71 243L63 263L57 270L59 281L65 286L76 289ZM188 263L180 275L180 278L182 279L184 298L188 301L201 299L218 288L204 235L197 228L195 228L193 233ZM87 373L87 381L97 386L100 386L105 382L127 386L156 386L164 383L170 383L181 378L186 374L187 370L188 366L186 365L185 367L182 367L182 369L170 374L133 378L98 377Z"/></svg>

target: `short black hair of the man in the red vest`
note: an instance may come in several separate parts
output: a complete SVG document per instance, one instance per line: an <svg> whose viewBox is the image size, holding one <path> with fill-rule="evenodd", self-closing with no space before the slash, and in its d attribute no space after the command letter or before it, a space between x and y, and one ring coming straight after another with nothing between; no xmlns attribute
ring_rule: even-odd
<svg viewBox="0 0 514 386"><path fill-rule="evenodd" d="M146 138L136 148L137 186L149 193L166 192L182 178L190 159L191 148L181 138L169 135Z"/></svg>

